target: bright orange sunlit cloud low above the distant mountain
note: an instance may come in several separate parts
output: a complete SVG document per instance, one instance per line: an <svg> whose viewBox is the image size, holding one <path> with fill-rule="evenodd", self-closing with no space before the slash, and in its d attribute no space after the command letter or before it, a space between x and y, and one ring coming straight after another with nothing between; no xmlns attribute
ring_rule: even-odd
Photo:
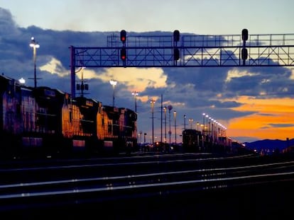
<svg viewBox="0 0 294 220"><path fill-rule="evenodd" d="M241 112L253 111L252 115L229 121L227 134L230 137L256 137L258 139L293 138L294 102L291 98L253 99L240 97L244 103Z"/></svg>

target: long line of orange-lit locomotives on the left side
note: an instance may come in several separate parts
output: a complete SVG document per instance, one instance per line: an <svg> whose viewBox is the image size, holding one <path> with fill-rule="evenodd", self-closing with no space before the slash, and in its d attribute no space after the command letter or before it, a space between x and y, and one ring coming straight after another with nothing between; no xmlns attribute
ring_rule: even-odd
<svg viewBox="0 0 294 220"><path fill-rule="evenodd" d="M0 158L130 153L134 110L0 76Z"/></svg>

